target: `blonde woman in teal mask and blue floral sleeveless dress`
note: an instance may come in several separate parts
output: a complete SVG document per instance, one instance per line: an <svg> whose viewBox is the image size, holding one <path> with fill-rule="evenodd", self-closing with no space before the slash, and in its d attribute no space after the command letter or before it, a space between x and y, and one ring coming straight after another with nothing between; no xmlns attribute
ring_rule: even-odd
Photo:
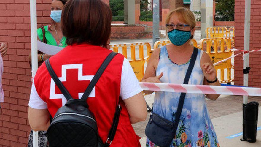
<svg viewBox="0 0 261 147"><path fill-rule="evenodd" d="M187 71L191 71L186 82L188 84L220 85L209 55L191 44L190 39L193 38L195 26L195 17L190 10L180 7L169 13L166 31L171 44L154 50L142 82L183 84ZM189 66L190 62L194 65ZM188 70L189 67L193 67L192 70ZM153 92L144 91L146 94ZM205 99L206 96L216 100L219 95L186 93L183 97L184 102L181 101L183 106L180 106L181 95L174 92L155 92L152 115L145 131L146 147L219 147ZM176 126L173 127L176 132L171 130L173 136L164 136L168 132L158 133L158 130L164 130L166 126L162 125L162 121L154 122L151 118L155 116ZM158 126L153 126L153 123ZM152 127L158 130L153 132Z"/></svg>

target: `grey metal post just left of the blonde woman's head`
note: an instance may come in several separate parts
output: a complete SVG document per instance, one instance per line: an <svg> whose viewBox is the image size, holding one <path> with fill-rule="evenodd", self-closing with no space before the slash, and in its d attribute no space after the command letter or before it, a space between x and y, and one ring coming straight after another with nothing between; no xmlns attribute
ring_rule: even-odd
<svg viewBox="0 0 261 147"><path fill-rule="evenodd" d="M160 1L153 0L153 40L152 46L155 42L160 40Z"/></svg>

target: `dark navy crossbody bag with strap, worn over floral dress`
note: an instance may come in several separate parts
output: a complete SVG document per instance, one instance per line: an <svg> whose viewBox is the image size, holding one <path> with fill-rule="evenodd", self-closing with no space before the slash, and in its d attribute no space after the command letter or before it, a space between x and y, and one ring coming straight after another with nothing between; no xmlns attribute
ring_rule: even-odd
<svg viewBox="0 0 261 147"><path fill-rule="evenodd" d="M188 84L191 72L193 70L193 67L195 65L195 61L197 59L198 55L198 49L194 48L194 51L192 53L192 58L190 60L189 67L186 72L186 76L184 79L183 84ZM156 113L153 113L150 115L149 122L145 129L145 134L149 138L150 141L155 143L156 145L160 147L169 147L172 143L173 138L176 135L176 131L178 128L180 115L182 112L184 100L185 100L186 93L181 93L179 98L179 104L177 108L177 112L175 113L175 121L169 121L161 116L159 116ZM153 110L153 108L152 108Z"/></svg>

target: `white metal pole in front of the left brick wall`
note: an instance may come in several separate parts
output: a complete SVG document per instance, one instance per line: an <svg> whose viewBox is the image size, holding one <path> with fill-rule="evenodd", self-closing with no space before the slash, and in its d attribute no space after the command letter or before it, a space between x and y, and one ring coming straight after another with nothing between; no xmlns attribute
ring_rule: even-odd
<svg viewBox="0 0 261 147"><path fill-rule="evenodd" d="M37 18L36 18L36 0L30 0L31 17L31 55L32 55L32 78L38 68L37 59ZM38 132L33 133L33 146L38 147Z"/></svg>

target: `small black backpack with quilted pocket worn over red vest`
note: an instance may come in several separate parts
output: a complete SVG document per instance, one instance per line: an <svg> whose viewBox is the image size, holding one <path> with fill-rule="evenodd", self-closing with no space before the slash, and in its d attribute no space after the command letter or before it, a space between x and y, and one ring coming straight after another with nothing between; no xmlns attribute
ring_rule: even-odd
<svg viewBox="0 0 261 147"><path fill-rule="evenodd" d="M98 72L95 74L81 99L73 99L53 71L49 60L45 61L46 67L58 88L67 99L65 106L58 109L50 127L47 130L47 139L50 147L108 147L114 139L121 107L116 106L114 120L108 139L104 144L99 135L95 117L88 109L86 99L98 82L102 73L117 53L110 53Z"/></svg>

